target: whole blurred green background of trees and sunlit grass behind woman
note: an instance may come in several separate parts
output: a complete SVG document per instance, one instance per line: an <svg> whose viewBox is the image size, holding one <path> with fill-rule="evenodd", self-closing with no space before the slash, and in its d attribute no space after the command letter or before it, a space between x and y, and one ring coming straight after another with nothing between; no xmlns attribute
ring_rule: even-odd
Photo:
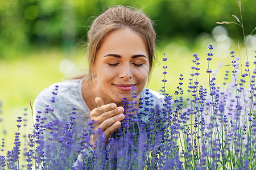
<svg viewBox="0 0 256 170"><path fill-rule="evenodd" d="M5 138L7 149L13 147L15 120L23 117L28 108L32 130L30 102L52 83L60 82L88 71L86 63L86 32L89 25L102 11L113 5L141 8L155 23L157 32L155 69L148 87L158 91L161 79L163 52L168 61L167 91L173 94L184 74L188 82L191 73L192 54L198 53L200 83L207 86L207 46L213 44L214 74L220 75L231 67L229 52L234 50L241 62L245 62L242 45L242 29L235 24L217 26L216 22L236 20L240 17L235 0L8 0L0 1L0 138ZM256 1L243 0L242 14L246 35L256 26ZM241 46L241 56L237 46ZM256 36L248 42L249 57L253 59ZM184 90L187 88L184 83Z"/></svg>

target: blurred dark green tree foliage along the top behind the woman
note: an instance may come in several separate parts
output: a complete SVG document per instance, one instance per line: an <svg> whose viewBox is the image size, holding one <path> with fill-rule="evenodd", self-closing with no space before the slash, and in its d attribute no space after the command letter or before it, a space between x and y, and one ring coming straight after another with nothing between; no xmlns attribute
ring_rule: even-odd
<svg viewBox="0 0 256 170"><path fill-rule="evenodd" d="M141 8L155 22L158 41L172 37L193 40L221 20L232 20L236 1L205 0L12 0L0 2L0 58L10 57L10 49L31 47L72 48L84 37L93 19L113 5ZM256 1L244 0L243 18L247 30L256 23ZM228 28L238 37L238 27ZM237 34L236 34L237 33Z"/></svg>

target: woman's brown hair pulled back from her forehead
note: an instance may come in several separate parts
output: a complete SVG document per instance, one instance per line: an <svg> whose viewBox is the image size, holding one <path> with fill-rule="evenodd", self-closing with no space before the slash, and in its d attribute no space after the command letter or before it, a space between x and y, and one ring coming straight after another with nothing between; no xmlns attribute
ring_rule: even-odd
<svg viewBox="0 0 256 170"><path fill-rule="evenodd" d="M96 53L108 33L122 28L129 28L142 36L146 42L151 72L155 61L155 30L151 20L141 11L125 6L114 6L103 12L92 23L88 32L89 75L92 77L92 67Z"/></svg>

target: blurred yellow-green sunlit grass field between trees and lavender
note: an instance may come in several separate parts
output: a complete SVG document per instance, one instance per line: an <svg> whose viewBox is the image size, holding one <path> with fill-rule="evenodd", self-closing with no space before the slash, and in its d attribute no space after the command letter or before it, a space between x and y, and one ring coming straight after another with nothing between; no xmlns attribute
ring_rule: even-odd
<svg viewBox="0 0 256 170"><path fill-rule="evenodd" d="M162 61L163 52L166 53L167 60L167 92L173 97L176 87L179 86L180 74L183 74L184 84L184 99L186 99L186 91L191 78L192 55L197 53L201 63L199 66L199 82L205 88L209 88L208 75L206 70L208 68L207 53L209 49L207 46L213 44L214 54L210 63L210 69L216 75L216 82L221 86L224 81L223 77L225 70L231 71L231 59L229 58L230 50L236 52L236 56L240 57L241 62L246 61L244 49L239 50L237 45L232 41L233 45L223 49L217 45L213 39L197 40L195 47L188 48L185 41L177 43L171 41L169 43L160 44L156 53L156 63L152 71L150 81L147 88L159 91L162 87L163 68ZM254 58L254 52L249 52L250 60ZM2 101L2 113L0 117L0 138L5 138L5 151L11 150L14 142L14 133L16 128L16 118L21 116L24 118L24 108L27 108L27 128L22 126L21 133L27 134L32 131L32 113L30 102L33 105L35 97L44 88L50 86L52 83L60 82L72 76L87 73L88 64L86 60L86 53L84 50L74 50L70 53L64 53L60 49L38 50L28 54L20 54L15 59L0 59L0 100ZM218 79L220 77L221 79ZM23 124L22 124L23 125ZM23 139L22 139L23 140Z"/></svg>

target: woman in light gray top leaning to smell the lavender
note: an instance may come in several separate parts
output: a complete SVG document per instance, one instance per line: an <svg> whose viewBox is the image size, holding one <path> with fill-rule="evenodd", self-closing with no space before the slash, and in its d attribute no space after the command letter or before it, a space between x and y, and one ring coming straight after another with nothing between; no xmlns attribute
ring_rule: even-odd
<svg viewBox="0 0 256 170"><path fill-rule="evenodd" d="M42 112L40 116L46 117L46 122L56 119L67 122L72 108L76 108L74 127L87 129L88 122L94 120L94 131L101 128L108 140L125 118L123 97L135 100L137 109L139 99L146 97L144 87L155 58L155 31L142 12L115 6L94 20L88 40L89 75L43 90L35 99L34 113ZM52 90L53 94L57 91L52 99L54 108L50 105L45 113L46 105L51 104ZM162 95L149 92L151 107L162 105ZM137 97L133 98L132 93ZM49 112L51 109L53 112ZM93 145L96 139L92 135L90 143Z"/></svg>

